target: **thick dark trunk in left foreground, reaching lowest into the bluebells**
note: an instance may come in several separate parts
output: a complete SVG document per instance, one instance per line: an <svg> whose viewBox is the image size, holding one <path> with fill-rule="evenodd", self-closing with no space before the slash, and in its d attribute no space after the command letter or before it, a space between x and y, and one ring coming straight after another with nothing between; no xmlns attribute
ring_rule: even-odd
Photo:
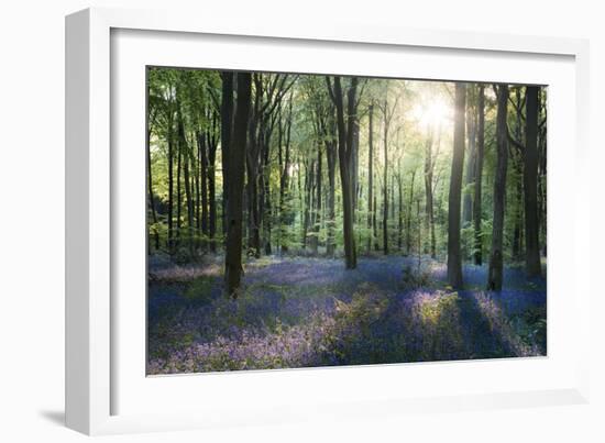
<svg viewBox="0 0 605 443"><path fill-rule="evenodd" d="M250 114L251 75L238 73L238 100L235 122L233 128L233 143L230 145L231 155L228 162L229 196L227 251L224 259L224 278L227 292L238 297L242 277L242 193L244 186L244 158L246 157L246 131Z"/></svg>

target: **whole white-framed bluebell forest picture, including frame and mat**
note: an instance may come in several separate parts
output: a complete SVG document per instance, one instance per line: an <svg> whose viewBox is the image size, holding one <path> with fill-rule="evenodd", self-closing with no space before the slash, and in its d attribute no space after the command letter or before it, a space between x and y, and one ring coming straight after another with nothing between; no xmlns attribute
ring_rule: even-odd
<svg viewBox="0 0 605 443"><path fill-rule="evenodd" d="M586 42L92 9L66 51L70 428L586 401Z"/></svg>

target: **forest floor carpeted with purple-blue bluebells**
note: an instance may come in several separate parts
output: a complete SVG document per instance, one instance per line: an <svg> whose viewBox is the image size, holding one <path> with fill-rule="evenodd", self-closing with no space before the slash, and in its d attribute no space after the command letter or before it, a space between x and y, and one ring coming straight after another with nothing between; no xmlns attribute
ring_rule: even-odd
<svg viewBox="0 0 605 443"><path fill-rule="evenodd" d="M237 300L222 261L177 266L151 257L148 374L546 355L546 278L465 265L465 289L430 258L263 257L245 264Z"/></svg>

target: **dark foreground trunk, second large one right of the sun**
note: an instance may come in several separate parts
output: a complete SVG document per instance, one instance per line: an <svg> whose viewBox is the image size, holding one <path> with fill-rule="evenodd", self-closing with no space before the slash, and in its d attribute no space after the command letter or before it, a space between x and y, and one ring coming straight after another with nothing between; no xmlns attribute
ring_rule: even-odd
<svg viewBox="0 0 605 443"><path fill-rule="evenodd" d="M494 180L494 223L492 230L492 251L490 254L490 269L487 276L487 290L502 290L503 283L503 237L504 237L504 210L506 204L506 170L508 167L508 129L507 103L508 86L501 85L497 88L498 107L496 117L497 164L496 178Z"/></svg>

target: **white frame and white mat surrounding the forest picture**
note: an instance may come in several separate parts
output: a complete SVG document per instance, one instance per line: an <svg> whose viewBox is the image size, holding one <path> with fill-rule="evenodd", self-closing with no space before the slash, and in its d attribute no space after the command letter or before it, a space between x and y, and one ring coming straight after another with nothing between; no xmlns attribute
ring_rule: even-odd
<svg viewBox="0 0 605 443"><path fill-rule="evenodd" d="M125 40L117 46L117 41L112 38L121 36ZM205 36L211 36L213 42L207 46L207 59L213 54L213 62L196 59L188 63L191 45L204 42ZM354 68L346 66L346 57L343 55L343 49L350 47L351 51L363 53L367 57L375 55L376 59L384 57L386 53L397 57L405 54L411 56L411 53L420 56L425 53L433 54L437 58L431 62L430 57L427 57L425 70L418 70L422 78L510 81L507 77L510 74L504 68L499 74L502 78L498 74L490 73L486 67L487 70L480 69L476 57L491 57L495 64L502 63L506 57L518 58L521 60L519 63L536 63L528 65L534 66L536 70L528 69L521 77L516 78L527 82L542 82L538 81L542 75L540 71L548 69L549 60L552 60L550 78L558 85L556 90L560 91L560 96L556 92L549 106L564 106L565 110L557 111L554 114L549 110L549 269L554 266L557 270L558 266L557 261L554 264L550 263L550 251L554 245L554 252L560 250L559 256L566 257L565 263L562 262L563 258L559 261L559 266L565 264L573 270L566 275L549 270L549 356L530 361L509 359L471 364L386 365L160 377L150 381L144 370L141 373L140 369L144 362L139 362L140 358L134 359L134 363L129 361L129 355L139 355L135 346L141 343L141 334L144 332L140 328L141 315L138 312L144 312L144 307L138 311L141 308L141 298L136 297L130 304L122 303L124 299L119 295L121 285L124 284L121 279L123 273L121 274L116 265L118 258L120 263L124 263L129 251L135 255L143 252L136 250L135 236L120 235L120 241L116 243L116 233L122 230L122 224L129 219L123 211L125 207L120 203L117 196L132 193L125 192L125 188L120 188L127 186L123 185L123 179L120 179L120 167L136 165L139 158L136 155L123 156L125 151L116 151L116 146L121 146L125 141L139 143L136 131L142 133L144 124L139 129L136 124L130 125L135 128L133 132L122 134L119 124L112 119L121 112L120 117L123 119L132 119L134 123L142 121L141 112L144 114L144 110L140 109L141 102L138 100L141 99L144 85L140 85L141 90L132 96L132 100L128 98L129 93L124 92L122 97L121 92L117 92L116 86L120 81L128 81L128 73L140 75L141 66L158 60L145 58L148 48L145 49L144 41L152 37L157 38L154 41L154 53L165 53L166 47L173 45L176 56L172 59L178 65L172 66L188 67L279 70L282 66L284 70L300 70L297 68L300 65L296 65L295 56L288 58L280 55L272 59L270 52L263 53L261 46L254 46L265 45L271 51L297 48L300 57L305 54L308 57L312 51L340 54L341 57L332 57L338 60L324 69L343 69L342 74L350 74ZM229 62L228 57L221 59L220 51L212 45L220 45L222 41L233 42L234 47L255 47L256 51L251 53L254 53L260 64L256 66L252 58L245 57L239 62ZM168 46L164 47L164 44ZM223 49L235 51L221 47L221 51ZM121 58L120 54L114 53L127 56ZM178 58L178 54L183 58ZM198 55L199 57L204 59L204 55ZM328 59L326 54L323 57L324 60ZM451 57L463 58L475 66L476 74L457 70L455 66L450 66L446 73L442 64L441 68L438 67L439 57L450 57L449 60ZM170 66L167 60L168 58L160 59L160 64ZM561 60L561 64L557 60ZM112 66L117 63L123 67L132 64L132 67L125 70L127 75L120 77L119 67ZM556 65L560 65L560 68L556 68ZM432 74L429 68L432 69ZM561 73L560 77L556 74L558 69ZM381 73L400 77L414 74L409 70L388 71L387 68L383 68ZM362 74L381 73L365 70ZM116 75L118 77L114 77ZM133 86L125 85L129 88ZM557 97L560 97L559 101ZM571 165L570 177L582 177L586 174L588 99L588 45L582 40L419 31L359 23L330 27L309 23L268 24L194 16L175 11L88 9L67 16L67 425L87 434L106 434L299 420L321 421L338 417L381 417L418 410L430 412L587 401L588 351L582 347L582 343L590 342L590 312L586 312L586 308L580 307L590 306L590 278L586 269L580 268L579 261L574 257L587 255L590 248L588 217L585 217L588 196L582 192L573 193L573 186L566 191L561 185L558 187L557 174L558 170L562 170L558 165ZM133 112L124 114L129 109ZM572 124L565 125L569 128L564 131L558 131L557 128L551 131L551 115L554 122L557 118L571 119ZM130 136L133 139L129 139ZM558 136L560 139L551 140ZM560 144L557 143L558 140ZM563 151L563 144L569 151ZM136 177L136 174L134 176ZM135 179L133 181L136 182ZM138 185L133 186L136 189L141 188ZM134 188L133 197L129 201L139 201L131 207L140 208L138 204L144 199L136 200L140 189ZM565 212L565 208L558 207L556 202L551 204L553 195L562 198L562 193L556 192L558 189L571 197L573 213L570 213L569 206ZM141 217L144 217L144 211L141 212ZM557 221L551 229L553 213L561 215L562 221ZM140 221L136 217L131 219ZM562 236L565 232L566 236ZM140 234L143 233L144 231ZM557 236L553 236L556 234ZM138 269L140 273L141 267ZM551 306L553 281L557 284L553 294L558 294L558 290L568 290L573 297L570 296L569 301L556 299ZM127 284L139 285L135 291L140 291L144 286L144 283L135 277L131 277ZM568 315L566 324L562 324L561 321L551 322L551 318L562 319L563 314ZM120 328L124 318L134 322L135 333L124 332L124 328ZM570 324L573 324L573 328L570 328ZM566 344L558 347L564 328L572 329L573 333L566 339ZM552 353L551 348L554 350ZM508 374L508 379L506 383L491 383L488 374ZM373 387L369 386L367 381L375 379L376 375L383 381L376 383ZM424 387L421 380L431 377L443 381L435 383L430 391L418 390ZM520 383L521 378L526 381ZM402 386L389 388L388 383L396 379L403 380ZM471 383L472 379L475 381ZM459 381L457 389L446 388L457 385L452 383L455 380ZM355 390L348 389L352 383L355 384ZM418 389L414 390L414 386ZM200 397L195 389L201 389L205 396ZM267 389L271 392L268 395ZM157 405L153 405L154 399ZM179 408L176 407L177 403ZM169 405L174 405L174 408L166 408ZM209 405L212 408L209 408ZM334 408L334 405L339 407Z"/></svg>

